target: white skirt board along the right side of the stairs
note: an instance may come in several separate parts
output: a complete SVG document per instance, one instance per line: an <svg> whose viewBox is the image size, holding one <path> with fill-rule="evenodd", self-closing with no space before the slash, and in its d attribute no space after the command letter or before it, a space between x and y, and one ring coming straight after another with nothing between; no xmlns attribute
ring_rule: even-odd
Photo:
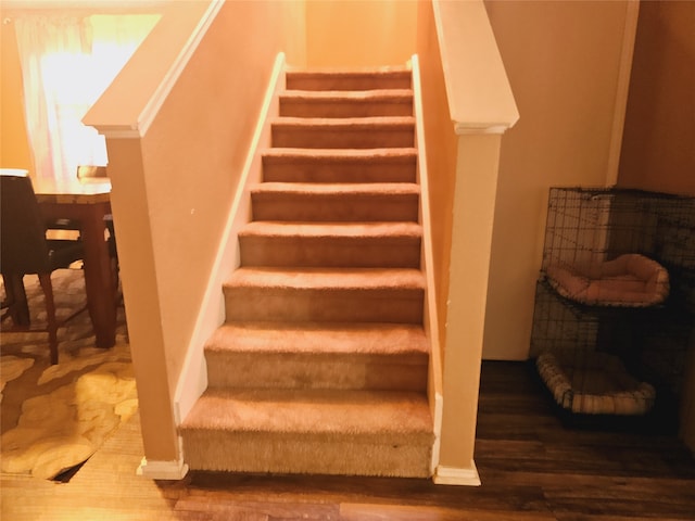
<svg viewBox="0 0 695 521"><path fill-rule="evenodd" d="M422 226L422 247L420 269L425 274L425 314L424 328L430 341L430 358L428 367L427 396L432 415L434 442L432 444L432 460L430 474L437 474L442 433L443 384L442 384L442 353L439 340L439 315L437 312L437 290L434 285L434 260L432 256L432 226L429 204L429 183L427 171L427 152L425 148L425 124L422 113L422 88L420 84L420 68L417 54L410 59L413 73L413 111L415 116L415 148L417 149L417 182L420 186L419 221Z"/></svg>

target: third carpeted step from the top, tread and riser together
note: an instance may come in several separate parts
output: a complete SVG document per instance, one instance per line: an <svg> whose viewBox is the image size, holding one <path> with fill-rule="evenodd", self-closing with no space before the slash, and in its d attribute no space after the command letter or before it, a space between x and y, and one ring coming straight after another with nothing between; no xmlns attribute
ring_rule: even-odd
<svg viewBox="0 0 695 521"><path fill-rule="evenodd" d="M415 144L415 118L277 117L270 123L273 147L303 149L381 149Z"/></svg>

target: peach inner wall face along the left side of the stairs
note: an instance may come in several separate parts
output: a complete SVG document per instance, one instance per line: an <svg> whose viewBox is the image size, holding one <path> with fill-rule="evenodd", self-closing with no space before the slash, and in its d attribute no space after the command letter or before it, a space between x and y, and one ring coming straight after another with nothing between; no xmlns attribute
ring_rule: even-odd
<svg viewBox="0 0 695 521"><path fill-rule="evenodd" d="M279 23L267 3L228 2L142 140L172 384L281 49Z"/></svg>

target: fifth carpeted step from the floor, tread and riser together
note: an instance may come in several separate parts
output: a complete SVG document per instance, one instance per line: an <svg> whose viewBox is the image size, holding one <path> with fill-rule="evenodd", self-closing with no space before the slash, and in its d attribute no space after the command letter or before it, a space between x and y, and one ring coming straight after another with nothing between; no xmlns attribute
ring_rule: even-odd
<svg viewBox="0 0 695 521"><path fill-rule="evenodd" d="M262 182L251 189L254 220L416 223L419 196L412 182Z"/></svg>

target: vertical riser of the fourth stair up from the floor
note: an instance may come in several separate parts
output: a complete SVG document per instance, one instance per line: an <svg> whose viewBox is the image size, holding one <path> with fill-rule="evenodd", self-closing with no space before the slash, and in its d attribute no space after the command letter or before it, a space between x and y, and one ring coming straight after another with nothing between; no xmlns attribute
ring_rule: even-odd
<svg viewBox="0 0 695 521"><path fill-rule="evenodd" d="M419 268L419 238L240 236L241 266Z"/></svg>

